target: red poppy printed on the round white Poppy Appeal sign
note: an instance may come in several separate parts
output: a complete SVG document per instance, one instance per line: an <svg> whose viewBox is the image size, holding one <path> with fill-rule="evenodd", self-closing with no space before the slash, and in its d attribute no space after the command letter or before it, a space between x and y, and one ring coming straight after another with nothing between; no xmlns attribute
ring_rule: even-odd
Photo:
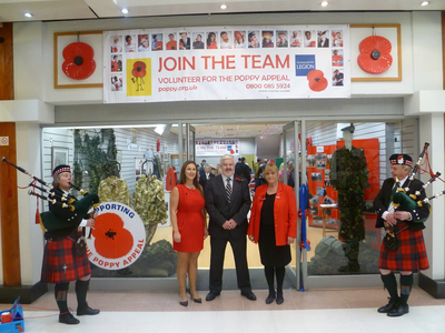
<svg viewBox="0 0 445 333"><path fill-rule="evenodd" d="M97 216L91 234L97 253L107 259L126 255L134 244L132 234L123 228L122 219L112 213Z"/></svg>

